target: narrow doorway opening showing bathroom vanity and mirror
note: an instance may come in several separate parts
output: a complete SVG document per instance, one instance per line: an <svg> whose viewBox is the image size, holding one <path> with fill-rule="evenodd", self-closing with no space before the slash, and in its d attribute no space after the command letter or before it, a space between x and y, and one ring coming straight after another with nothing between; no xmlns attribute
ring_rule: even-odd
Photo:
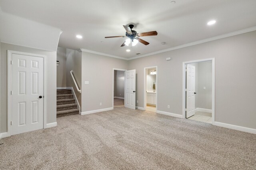
<svg viewBox="0 0 256 170"><path fill-rule="evenodd" d="M144 68L144 109L157 110L157 66Z"/></svg>

